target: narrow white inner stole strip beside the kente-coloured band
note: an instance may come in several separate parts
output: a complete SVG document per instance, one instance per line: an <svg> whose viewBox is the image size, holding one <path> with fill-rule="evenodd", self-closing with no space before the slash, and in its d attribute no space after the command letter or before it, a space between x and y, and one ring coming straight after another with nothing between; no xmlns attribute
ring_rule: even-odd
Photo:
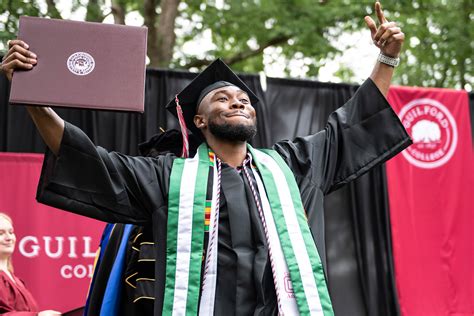
<svg viewBox="0 0 474 316"><path fill-rule="evenodd" d="M204 283L201 302L199 304L199 316L213 316L214 315L214 301L216 297L216 283L217 283L217 245L219 244L219 217L216 219L216 200L217 200L217 157L214 159L214 174L212 182L212 201L211 201L211 218L209 219L209 244L206 253L207 257L211 254L210 265L207 268L206 281ZM214 221L217 220L217 230L215 232L214 244L211 249L211 236L214 231ZM206 267L205 267L206 269Z"/></svg>

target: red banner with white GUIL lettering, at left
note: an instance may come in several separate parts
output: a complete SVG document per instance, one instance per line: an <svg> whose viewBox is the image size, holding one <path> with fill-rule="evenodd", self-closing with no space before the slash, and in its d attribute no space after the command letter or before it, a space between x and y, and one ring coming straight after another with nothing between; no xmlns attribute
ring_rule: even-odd
<svg viewBox="0 0 474 316"><path fill-rule="evenodd" d="M104 223L35 200L43 155L0 153L0 212L16 233L15 274L40 308L65 312L85 304Z"/></svg>

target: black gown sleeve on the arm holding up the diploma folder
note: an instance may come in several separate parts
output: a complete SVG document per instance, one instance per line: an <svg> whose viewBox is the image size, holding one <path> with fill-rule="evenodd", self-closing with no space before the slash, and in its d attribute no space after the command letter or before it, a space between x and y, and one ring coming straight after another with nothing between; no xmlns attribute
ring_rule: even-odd
<svg viewBox="0 0 474 316"><path fill-rule="evenodd" d="M107 152L66 122L58 155L46 152L36 198L105 222L143 224L166 205L173 159Z"/></svg>

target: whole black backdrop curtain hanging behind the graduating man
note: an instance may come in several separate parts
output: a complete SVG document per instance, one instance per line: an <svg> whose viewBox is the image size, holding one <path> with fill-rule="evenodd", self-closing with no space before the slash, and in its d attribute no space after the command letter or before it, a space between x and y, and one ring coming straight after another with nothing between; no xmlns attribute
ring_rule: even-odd
<svg viewBox="0 0 474 316"><path fill-rule="evenodd" d="M59 115L82 128L108 150L136 155L137 145L159 128L177 128L164 109L174 94L196 74L147 70L145 113L58 109ZM329 114L348 100L357 86L305 80L267 79L242 75L262 102L257 107L259 133L253 144L271 146L324 128ZM43 152L26 111L8 105L9 86L0 76L0 151ZM474 95L470 95L471 116ZM473 133L474 135L474 133ZM336 315L398 315L385 170L379 167L325 201L326 266Z"/></svg>

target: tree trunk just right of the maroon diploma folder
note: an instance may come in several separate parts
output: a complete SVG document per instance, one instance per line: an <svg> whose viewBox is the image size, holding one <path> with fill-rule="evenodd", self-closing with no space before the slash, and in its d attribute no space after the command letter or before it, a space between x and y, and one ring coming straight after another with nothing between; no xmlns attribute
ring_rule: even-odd
<svg viewBox="0 0 474 316"><path fill-rule="evenodd" d="M180 0L162 0L157 29L157 54L150 55L150 66L169 67L176 42L174 32ZM152 58L153 57L153 58Z"/></svg>

